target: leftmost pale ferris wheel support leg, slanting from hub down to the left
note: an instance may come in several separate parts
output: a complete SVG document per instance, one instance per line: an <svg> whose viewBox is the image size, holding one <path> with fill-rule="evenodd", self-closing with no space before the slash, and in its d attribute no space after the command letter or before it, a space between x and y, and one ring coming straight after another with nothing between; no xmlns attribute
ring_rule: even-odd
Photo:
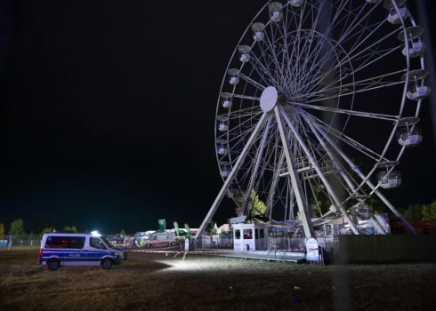
<svg viewBox="0 0 436 311"><path fill-rule="evenodd" d="M239 167L244 162L246 155L248 153L248 150L253 146L254 140L259 134L259 132L262 129L263 124L265 124L267 113L263 113L259 122L256 124L253 133L251 134L250 138L246 142L246 146L242 150L241 154L238 156L238 160L235 163L235 166L233 166L233 169L230 171L229 177L224 181L224 185L222 185L222 188L218 195L215 198L214 203L212 204L209 212L206 215L206 218L201 223L201 226L198 228L198 232L195 235L195 239L198 239L198 236L203 235L203 232L206 229L207 224L209 221L214 217L215 211L217 210L218 206L222 202L222 198L224 197L227 189L229 188L231 182L233 179L235 179L236 173L239 170Z"/></svg>

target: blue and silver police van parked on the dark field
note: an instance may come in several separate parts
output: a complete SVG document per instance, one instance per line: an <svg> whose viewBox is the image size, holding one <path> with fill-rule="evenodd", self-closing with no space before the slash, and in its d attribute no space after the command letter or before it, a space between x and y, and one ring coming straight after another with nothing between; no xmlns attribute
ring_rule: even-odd
<svg viewBox="0 0 436 311"><path fill-rule="evenodd" d="M53 232L44 234L39 263L54 271L61 266L99 266L110 269L123 262L125 253L101 235Z"/></svg>

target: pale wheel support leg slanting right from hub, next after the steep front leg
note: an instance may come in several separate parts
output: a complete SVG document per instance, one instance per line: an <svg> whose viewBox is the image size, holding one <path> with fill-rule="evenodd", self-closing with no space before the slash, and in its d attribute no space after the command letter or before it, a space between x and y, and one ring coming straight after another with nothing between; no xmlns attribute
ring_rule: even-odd
<svg viewBox="0 0 436 311"><path fill-rule="evenodd" d="M279 111L279 110L278 110ZM283 117L285 118L285 120L287 121L287 125L289 126L289 128L291 129L291 131L294 134L295 139L298 141L298 143L300 144L300 146L303 148L304 153L306 154L307 158L309 159L310 163L312 164L313 168L315 169L315 171L317 171L317 174L319 176L319 178L322 180L322 182L324 183L324 185L327 188L327 191L329 192L329 194L332 196L333 200L335 201L336 206L339 208L339 211L342 212L343 214L343 218L345 218L347 220L347 222L350 224L351 230L355 235L359 235L359 230L356 227L356 225L354 224L354 222L352 221L350 215L348 215L347 211L345 210L345 208L343 207L343 204L341 202L341 200L337 197L337 195L335 194L335 190L333 189L333 187L330 185L330 183L328 182L326 176L324 175L324 173L322 172L322 170L319 168L319 165L317 163L317 161L315 161L315 159L313 158L313 156L311 156L311 151L309 150L309 148L306 146L306 144L304 143L303 139L301 138L300 134L296 131L294 124L292 124L291 120L289 119L289 116L287 116L287 112L285 111L284 108L281 108L281 114L283 115Z"/></svg>

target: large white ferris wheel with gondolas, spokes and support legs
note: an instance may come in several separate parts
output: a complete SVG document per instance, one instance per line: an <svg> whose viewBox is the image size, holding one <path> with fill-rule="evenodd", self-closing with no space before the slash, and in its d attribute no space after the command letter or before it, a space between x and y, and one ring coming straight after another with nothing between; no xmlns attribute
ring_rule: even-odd
<svg viewBox="0 0 436 311"><path fill-rule="evenodd" d="M265 4L222 80L215 144L224 185L198 235L224 195L250 216L255 193L267 222L295 219L295 206L314 236L317 191L330 203L319 219L343 217L353 234L359 212L376 223L372 196L415 232L380 188L400 186L401 156L422 140L416 124L431 91L422 32L406 0Z"/></svg>

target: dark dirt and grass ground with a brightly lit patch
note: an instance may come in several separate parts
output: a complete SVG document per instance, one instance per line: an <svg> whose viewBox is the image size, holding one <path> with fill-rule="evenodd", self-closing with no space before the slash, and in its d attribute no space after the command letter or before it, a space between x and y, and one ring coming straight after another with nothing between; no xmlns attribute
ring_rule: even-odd
<svg viewBox="0 0 436 311"><path fill-rule="evenodd" d="M130 252L110 270L0 252L0 310L433 310L436 264L312 266Z"/></svg>

